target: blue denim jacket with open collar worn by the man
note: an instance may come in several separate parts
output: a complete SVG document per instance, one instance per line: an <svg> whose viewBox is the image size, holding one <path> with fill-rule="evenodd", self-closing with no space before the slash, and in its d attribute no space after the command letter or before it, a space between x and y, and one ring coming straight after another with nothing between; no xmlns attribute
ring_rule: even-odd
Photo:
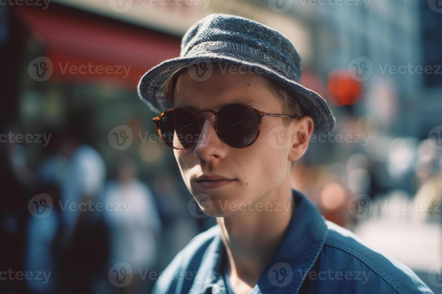
<svg viewBox="0 0 442 294"><path fill-rule="evenodd" d="M292 193L295 212L252 294L433 293L410 268L324 220L303 194ZM220 227L215 225L175 256L152 293L227 293L224 258Z"/></svg>

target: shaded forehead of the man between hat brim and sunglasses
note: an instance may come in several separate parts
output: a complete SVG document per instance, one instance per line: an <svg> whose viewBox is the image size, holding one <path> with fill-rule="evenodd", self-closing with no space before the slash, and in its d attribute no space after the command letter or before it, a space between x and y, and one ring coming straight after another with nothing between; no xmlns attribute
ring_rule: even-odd
<svg viewBox="0 0 442 294"><path fill-rule="evenodd" d="M219 110L226 104L241 103L260 111L280 109L277 97L266 77L254 73L230 73L229 66L213 63L213 72L205 81L197 81L187 70L177 78L173 106ZM226 70L225 70L226 69Z"/></svg>

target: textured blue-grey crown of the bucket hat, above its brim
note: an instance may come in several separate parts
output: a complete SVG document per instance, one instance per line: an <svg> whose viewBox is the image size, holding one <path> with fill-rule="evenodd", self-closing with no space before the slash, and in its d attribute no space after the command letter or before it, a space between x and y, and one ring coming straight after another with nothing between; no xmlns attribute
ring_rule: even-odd
<svg viewBox="0 0 442 294"><path fill-rule="evenodd" d="M258 63L299 82L301 57L281 33L243 17L214 13L207 15L184 34L180 57L213 54Z"/></svg>

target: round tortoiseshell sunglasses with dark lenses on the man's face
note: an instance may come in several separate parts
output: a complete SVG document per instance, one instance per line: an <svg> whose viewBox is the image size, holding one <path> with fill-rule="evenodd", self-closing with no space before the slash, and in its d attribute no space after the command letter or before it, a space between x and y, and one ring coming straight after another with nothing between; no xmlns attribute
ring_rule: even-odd
<svg viewBox="0 0 442 294"><path fill-rule="evenodd" d="M292 117L266 113L244 104L227 104L218 112L202 109L194 114L184 107L172 107L162 112L152 121L156 123L160 138L171 148L184 150L192 147L201 134L201 122L198 115L211 112L215 115L213 126L217 136L233 148L245 148L253 144L259 135L263 116Z"/></svg>

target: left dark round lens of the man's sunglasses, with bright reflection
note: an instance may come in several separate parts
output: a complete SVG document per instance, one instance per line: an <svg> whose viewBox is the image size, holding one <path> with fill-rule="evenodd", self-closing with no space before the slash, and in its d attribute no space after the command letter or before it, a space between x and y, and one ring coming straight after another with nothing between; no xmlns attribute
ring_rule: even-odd
<svg viewBox="0 0 442 294"><path fill-rule="evenodd" d="M176 108L161 117L160 131L169 146L183 149L198 138L199 124L191 112Z"/></svg>

